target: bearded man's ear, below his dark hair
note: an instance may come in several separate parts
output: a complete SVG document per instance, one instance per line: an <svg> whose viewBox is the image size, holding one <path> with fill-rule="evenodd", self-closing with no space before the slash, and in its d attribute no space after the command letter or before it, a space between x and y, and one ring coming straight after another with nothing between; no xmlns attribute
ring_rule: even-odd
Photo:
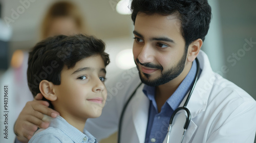
<svg viewBox="0 0 256 143"><path fill-rule="evenodd" d="M187 61L193 62L196 59L202 44L203 44L203 40L199 38L188 45Z"/></svg>

